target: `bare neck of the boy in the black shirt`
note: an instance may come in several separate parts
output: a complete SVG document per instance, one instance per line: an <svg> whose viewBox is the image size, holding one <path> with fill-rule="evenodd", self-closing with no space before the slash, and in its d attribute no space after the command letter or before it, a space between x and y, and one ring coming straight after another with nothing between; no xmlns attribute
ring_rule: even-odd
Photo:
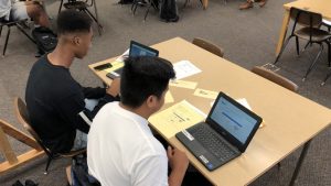
<svg viewBox="0 0 331 186"><path fill-rule="evenodd" d="M75 55L65 46L57 45L55 50L47 55L47 58L52 65L68 68L72 65Z"/></svg>

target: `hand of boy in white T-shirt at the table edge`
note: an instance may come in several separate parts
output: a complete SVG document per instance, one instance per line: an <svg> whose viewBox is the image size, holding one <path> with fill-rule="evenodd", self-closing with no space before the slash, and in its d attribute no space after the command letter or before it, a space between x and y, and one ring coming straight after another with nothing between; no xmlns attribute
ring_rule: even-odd
<svg viewBox="0 0 331 186"><path fill-rule="evenodd" d="M167 155L172 169L186 171L189 158L184 152L168 146Z"/></svg>

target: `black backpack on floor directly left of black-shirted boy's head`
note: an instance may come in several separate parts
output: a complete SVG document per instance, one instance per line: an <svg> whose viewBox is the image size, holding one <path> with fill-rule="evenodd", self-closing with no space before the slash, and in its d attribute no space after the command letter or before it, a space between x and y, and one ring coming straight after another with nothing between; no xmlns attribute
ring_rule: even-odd
<svg viewBox="0 0 331 186"><path fill-rule="evenodd" d="M52 52L57 44L57 35L47 28L35 28L32 36L41 54Z"/></svg>

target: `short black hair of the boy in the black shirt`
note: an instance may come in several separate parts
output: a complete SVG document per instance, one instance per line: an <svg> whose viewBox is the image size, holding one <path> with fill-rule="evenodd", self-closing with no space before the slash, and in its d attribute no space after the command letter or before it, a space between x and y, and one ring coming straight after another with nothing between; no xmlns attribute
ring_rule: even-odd
<svg viewBox="0 0 331 186"><path fill-rule="evenodd" d="M92 28L92 19L84 12L64 10L57 17L57 34L86 32Z"/></svg>

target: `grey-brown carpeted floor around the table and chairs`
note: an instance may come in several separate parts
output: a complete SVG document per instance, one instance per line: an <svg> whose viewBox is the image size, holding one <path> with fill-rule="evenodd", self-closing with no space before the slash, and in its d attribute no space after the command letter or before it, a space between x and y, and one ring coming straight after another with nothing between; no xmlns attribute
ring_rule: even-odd
<svg viewBox="0 0 331 186"><path fill-rule="evenodd" d="M130 4L119 6L116 0L97 0L99 20L105 28L102 36L95 29L93 47L88 56L76 61L71 72L84 86L99 86L100 80L88 70L87 65L121 54L127 50L129 41L136 40L147 45L156 44L174 36L188 41L193 37L204 37L224 47L225 58L250 69L255 65L273 63L284 15L282 4L290 0L268 1L265 8L255 7L248 11L239 11L238 6L244 0L210 0L209 8L202 10L197 0L182 9L184 0L178 0L180 21L164 23L158 19L158 12L152 10L147 21L142 22L146 8L138 8L135 17L130 13ZM47 0L46 8L55 22L60 1ZM55 29L55 28L54 28ZM3 29L6 31L6 29ZM0 48L3 47L2 33ZM303 46L303 42L301 43ZM320 83L329 72L327 67L327 51L321 55L317 67L308 79L301 78L309 63L316 56L318 46L309 47L299 57L296 55L293 41L289 44L279 62L279 74L299 85L299 94L331 108L331 80L321 87ZM23 130L13 112L13 98L24 98L26 78L31 66L36 61L35 46L15 29L12 30L7 55L0 58L0 118ZM222 69L220 69L222 72ZM290 107L290 106L289 106ZM309 109L309 108L307 108ZM313 110L312 110L313 112ZM281 136L279 136L281 138ZM299 186L331 185L331 129L321 132L311 143L307 158L299 174ZM18 154L29 150L20 142L10 139ZM276 167L263 174L252 183L254 186L288 185L293 167L300 153L293 152L281 161L280 169ZM4 157L0 154L0 162ZM24 167L1 175L0 186L11 186L17 179L26 178L40 183L41 186L65 186L64 167L67 160L53 162L49 175L43 175L45 158L34 161ZM241 175L238 175L241 176ZM197 184L199 185L199 184Z"/></svg>

